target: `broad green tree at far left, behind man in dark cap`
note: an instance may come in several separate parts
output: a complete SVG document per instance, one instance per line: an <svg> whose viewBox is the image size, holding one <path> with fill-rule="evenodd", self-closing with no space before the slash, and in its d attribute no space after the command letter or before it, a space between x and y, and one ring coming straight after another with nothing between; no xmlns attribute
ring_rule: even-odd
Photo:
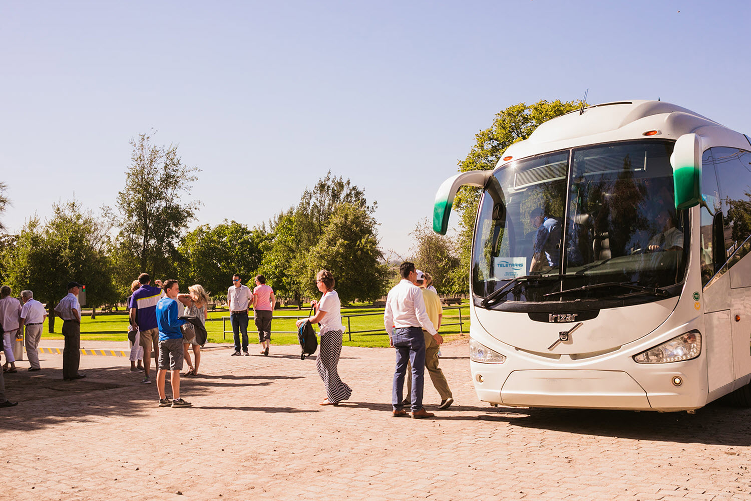
<svg viewBox="0 0 751 501"><path fill-rule="evenodd" d="M35 299L55 306L71 280L86 285L86 305L98 308L118 299L107 256L110 226L83 210L80 201L53 204L53 216L33 216L5 256L8 284L29 289Z"/></svg>

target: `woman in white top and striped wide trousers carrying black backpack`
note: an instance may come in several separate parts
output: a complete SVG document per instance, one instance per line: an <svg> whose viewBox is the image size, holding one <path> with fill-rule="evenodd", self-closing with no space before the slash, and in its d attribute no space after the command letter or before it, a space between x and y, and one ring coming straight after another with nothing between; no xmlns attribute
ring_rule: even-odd
<svg viewBox="0 0 751 501"><path fill-rule="evenodd" d="M330 271L319 271L315 276L315 285L323 293L321 300L311 301L315 315L298 320L297 327L306 320L312 324L321 324L321 349L315 367L324 381L326 398L319 405L338 406L339 402L348 400L352 394L351 388L339 379L336 368L339 364L339 355L342 354L342 303L339 302L339 294L333 290L334 279Z"/></svg>

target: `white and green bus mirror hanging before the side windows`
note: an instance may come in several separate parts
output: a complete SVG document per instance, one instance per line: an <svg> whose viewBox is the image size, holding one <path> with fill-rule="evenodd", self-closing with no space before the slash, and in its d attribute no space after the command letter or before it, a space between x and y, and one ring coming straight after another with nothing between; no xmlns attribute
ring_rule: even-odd
<svg viewBox="0 0 751 501"><path fill-rule="evenodd" d="M688 209L701 202L701 136L683 134L670 155L673 166L675 208Z"/></svg>

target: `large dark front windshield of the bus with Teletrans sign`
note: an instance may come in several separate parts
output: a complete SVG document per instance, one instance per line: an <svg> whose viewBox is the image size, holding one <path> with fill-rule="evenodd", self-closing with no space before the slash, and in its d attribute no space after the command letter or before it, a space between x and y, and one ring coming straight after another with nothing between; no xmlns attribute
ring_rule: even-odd
<svg viewBox="0 0 751 501"><path fill-rule="evenodd" d="M675 210L673 145L599 144L499 168L475 225L478 306L602 308L678 294L689 225L688 212Z"/></svg>

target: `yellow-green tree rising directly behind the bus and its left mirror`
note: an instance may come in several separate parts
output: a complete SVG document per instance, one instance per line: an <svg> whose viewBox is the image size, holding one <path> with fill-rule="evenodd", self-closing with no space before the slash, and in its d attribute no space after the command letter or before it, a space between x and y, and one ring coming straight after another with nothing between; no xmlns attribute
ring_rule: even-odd
<svg viewBox="0 0 751 501"><path fill-rule="evenodd" d="M543 122L556 116L569 113L586 105L583 101L538 101L535 104L514 104L496 113L490 127L475 134L475 145L466 158L459 162L459 171L490 171L508 146L526 139ZM462 281L469 283L469 262L472 252L472 231L475 214L482 190L463 186L454 199L454 210L460 213L460 233L458 238Z"/></svg>

